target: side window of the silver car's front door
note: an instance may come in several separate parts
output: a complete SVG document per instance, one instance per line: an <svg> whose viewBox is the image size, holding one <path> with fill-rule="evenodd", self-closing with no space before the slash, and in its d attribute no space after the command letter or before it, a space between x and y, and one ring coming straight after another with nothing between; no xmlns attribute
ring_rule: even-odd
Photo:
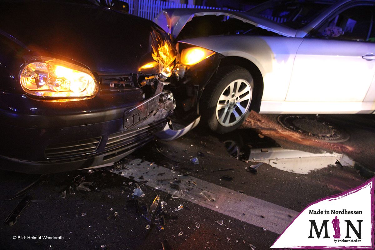
<svg viewBox="0 0 375 250"><path fill-rule="evenodd" d="M312 37L374 42L374 7L355 6L329 18Z"/></svg>

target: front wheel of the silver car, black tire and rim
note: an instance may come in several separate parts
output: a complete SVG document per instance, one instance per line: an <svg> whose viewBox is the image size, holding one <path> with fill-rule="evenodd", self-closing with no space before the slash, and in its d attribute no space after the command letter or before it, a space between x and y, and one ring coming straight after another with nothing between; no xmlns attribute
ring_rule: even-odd
<svg viewBox="0 0 375 250"><path fill-rule="evenodd" d="M245 68L219 68L202 93L201 121L216 133L237 129L249 115L253 90L254 79Z"/></svg>

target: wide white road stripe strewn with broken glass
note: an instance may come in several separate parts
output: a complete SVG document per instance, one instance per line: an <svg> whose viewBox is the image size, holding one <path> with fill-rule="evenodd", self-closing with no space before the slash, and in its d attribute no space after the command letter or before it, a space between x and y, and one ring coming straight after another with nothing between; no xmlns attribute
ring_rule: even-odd
<svg viewBox="0 0 375 250"><path fill-rule="evenodd" d="M178 197L181 199L242 220L243 222L265 228L277 234L281 234L298 214L297 211L195 177L182 176L182 174L177 171L156 164L150 166L150 164L150 162L135 159L123 165L129 169L112 169L112 172L125 177L133 176L135 181L143 181L138 179L142 175L144 180L148 181L145 184L147 186L153 188L158 187L158 190L172 195L178 194ZM173 179L181 180L181 183L178 184L180 186L180 192L176 192L175 189L172 189L169 182L160 181ZM193 181L196 183L196 186L187 181ZM215 201L207 201L207 199L200 194L203 190L210 192Z"/></svg>

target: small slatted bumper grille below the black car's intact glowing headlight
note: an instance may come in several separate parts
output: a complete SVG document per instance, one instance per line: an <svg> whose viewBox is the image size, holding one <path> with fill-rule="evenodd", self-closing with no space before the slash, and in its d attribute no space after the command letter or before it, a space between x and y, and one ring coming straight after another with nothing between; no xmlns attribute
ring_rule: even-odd
<svg viewBox="0 0 375 250"><path fill-rule="evenodd" d="M51 158L81 156L94 153L98 148L101 137L84 139L74 142L49 145L46 147L45 156Z"/></svg>

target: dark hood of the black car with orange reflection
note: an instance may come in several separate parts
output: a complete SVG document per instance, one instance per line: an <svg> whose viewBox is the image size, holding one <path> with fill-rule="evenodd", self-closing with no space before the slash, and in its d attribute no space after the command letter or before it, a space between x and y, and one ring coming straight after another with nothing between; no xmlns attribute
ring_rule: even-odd
<svg viewBox="0 0 375 250"><path fill-rule="evenodd" d="M136 73L153 61L153 22L102 6L64 1L3 1L0 30L29 51L46 51L93 71ZM157 69L155 69L157 70Z"/></svg>

